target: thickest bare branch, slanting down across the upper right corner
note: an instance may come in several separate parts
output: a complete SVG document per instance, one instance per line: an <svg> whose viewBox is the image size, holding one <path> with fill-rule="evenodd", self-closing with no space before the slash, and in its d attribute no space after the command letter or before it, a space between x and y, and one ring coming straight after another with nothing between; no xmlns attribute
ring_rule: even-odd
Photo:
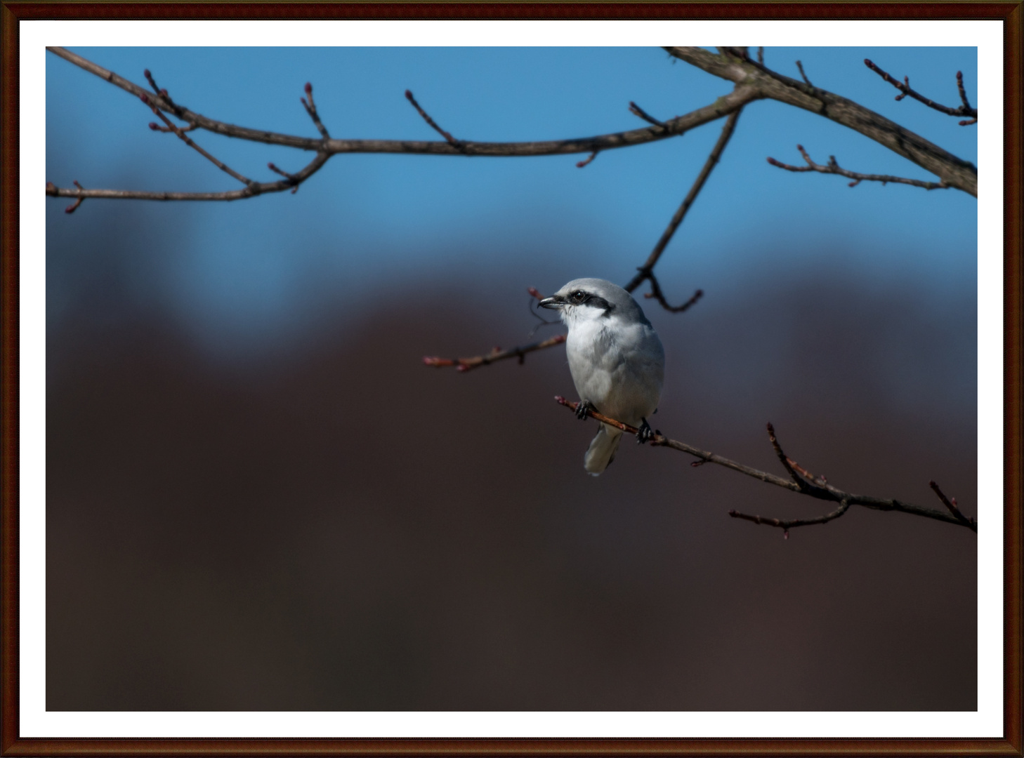
<svg viewBox="0 0 1024 758"><path fill-rule="evenodd" d="M714 76L770 98L830 119L870 137L938 176L945 184L978 196L978 169L884 116L840 95L782 76L750 57L713 53L700 47L667 47L670 54Z"/></svg>

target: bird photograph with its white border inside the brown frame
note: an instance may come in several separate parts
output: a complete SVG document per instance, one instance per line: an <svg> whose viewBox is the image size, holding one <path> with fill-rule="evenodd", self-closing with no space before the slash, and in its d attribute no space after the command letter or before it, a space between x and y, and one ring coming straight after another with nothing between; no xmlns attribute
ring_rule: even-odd
<svg viewBox="0 0 1024 758"><path fill-rule="evenodd" d="M999 737L1002 63L948 25L52 35L45 718Z"/></svg>

